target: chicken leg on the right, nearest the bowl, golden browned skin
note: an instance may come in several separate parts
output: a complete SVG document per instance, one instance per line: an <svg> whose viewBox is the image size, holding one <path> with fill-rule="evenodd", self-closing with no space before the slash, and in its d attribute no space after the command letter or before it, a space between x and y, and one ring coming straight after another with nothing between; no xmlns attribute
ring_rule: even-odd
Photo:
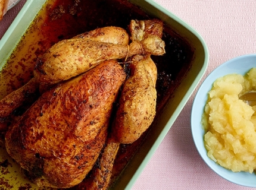
<svg viewBox="0 0 256 190"><path fill-rule="evenodd" d="M133 143L148 129L155 117L157 68L150 58L136 55L121 91L112 133L117 143Z"/></svg>

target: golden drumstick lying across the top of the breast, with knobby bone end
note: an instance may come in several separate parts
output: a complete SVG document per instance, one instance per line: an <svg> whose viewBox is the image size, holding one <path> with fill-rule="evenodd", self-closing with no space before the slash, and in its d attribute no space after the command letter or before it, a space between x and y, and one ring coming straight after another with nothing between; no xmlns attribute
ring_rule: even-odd
<svg viewBox="0 0 256 190"><path fill-rule="evenodd" d="M102 61L148 53L163 55L163 40L151 36L141 42L132 42L130 46L80 38L62 40L42 56L35 66L34 75L40 83L58 83L79 75Z"/></svg>

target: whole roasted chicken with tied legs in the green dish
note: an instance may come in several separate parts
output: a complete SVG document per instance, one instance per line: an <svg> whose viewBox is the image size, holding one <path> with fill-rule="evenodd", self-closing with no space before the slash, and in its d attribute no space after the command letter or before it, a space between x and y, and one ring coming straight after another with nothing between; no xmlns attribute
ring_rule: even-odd
<svg viewBox="0 0 256 190"><path fill-rule="evenodd" d="M30 181L54 188L77 185L102 152L91 180L80 184L107 187L118 145L137 140L154 119L157 70L150 55L165 53L162 30L159 20L132 21L130 44L118 27L58 42L38 59L35 78L0 101L5 118L23 102L24 91L41 88L17 122L2 125L7 152ZM128 58L132 75L126 80L117 60ZM114 102L119 102L116 114Z"/></svg>

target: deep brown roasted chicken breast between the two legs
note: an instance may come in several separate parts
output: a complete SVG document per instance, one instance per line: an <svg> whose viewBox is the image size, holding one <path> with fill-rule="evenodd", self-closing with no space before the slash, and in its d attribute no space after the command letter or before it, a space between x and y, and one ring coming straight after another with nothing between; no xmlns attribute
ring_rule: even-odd
<svg viewBox="0 0 256 190"><path fill-rule="evenodd" d="M5 137L8 153L38 186L68 188L92 169L123 68L106 61L44 93Z"/></svg>

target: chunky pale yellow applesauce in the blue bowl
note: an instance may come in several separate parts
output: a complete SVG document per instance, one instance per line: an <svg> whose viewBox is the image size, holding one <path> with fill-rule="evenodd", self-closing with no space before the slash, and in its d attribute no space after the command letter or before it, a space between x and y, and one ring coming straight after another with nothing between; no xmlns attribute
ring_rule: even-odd
<svg viewBox="0 0 256 190"><path fill-rule="evenodd" d="M202 116L207 155L233 172L254 172L256 168L256 106L239 99L256 89L256 68L246 75L218 78L208 93Z"/></svg>

